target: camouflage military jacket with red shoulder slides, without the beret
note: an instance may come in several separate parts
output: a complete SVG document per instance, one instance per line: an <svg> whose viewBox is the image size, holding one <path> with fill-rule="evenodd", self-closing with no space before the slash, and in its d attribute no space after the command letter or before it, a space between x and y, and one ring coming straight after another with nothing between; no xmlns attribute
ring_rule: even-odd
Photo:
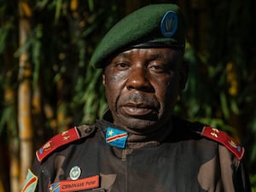
<svg viewBox="0 0 256 192"><path fill-rule="evenodd" d="M236 141L198 123L174 118L173 125L139 141L110 132L116 128L104 119L74 127L38 150L22 191L251 191ZM110 133L110 142L125 145L108 143Z"/></svg>

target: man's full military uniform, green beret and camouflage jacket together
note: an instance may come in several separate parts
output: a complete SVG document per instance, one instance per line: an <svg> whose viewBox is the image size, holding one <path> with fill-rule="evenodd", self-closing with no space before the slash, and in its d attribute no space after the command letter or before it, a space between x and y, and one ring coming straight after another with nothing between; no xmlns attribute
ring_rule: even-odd
<svg viewBox="0 0 256 192"><path fill-rule="evenodd" d="M132 48L184 51L177 5L156 4L120 20L102 39L91 65L104 67ZM223 131L173 117L149 135L113 125L110 112L94 125L65 131L37 151L22 191L249 192L244 148Z"/></svg>

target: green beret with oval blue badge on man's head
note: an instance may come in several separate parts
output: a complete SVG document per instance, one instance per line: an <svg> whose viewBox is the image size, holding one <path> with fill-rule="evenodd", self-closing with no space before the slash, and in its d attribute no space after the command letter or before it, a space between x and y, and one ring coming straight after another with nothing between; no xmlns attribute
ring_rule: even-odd
<svg viewBox="0 0 256 192"><path fill-rule="evenodd" d="M137 9L115 24L102 38L90 63L96 68L104 67L104 61L110 55L138 44L144 44L144 47L154 47L154 44L184 47L184 22L176 4L151 4Z"/></svg>

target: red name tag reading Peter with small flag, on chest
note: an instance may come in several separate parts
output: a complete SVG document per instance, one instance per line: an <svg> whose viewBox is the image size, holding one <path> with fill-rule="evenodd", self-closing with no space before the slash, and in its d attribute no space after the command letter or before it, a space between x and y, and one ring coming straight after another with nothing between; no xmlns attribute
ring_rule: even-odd
<svg viewBox="0 0 256 192"><path fill-rule="evenodd" d="M81 178L78 180L60 181L49 185L49 192L69 192L86 189L96 189L100 186L100 177L98 175L92 177Z"/></svg>

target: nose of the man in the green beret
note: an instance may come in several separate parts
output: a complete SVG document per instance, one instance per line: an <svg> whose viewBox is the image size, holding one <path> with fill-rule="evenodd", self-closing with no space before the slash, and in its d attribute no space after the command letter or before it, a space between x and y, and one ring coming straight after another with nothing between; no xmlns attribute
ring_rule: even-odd
<svg viewBox="0 0 256 192"><path fill-rule="evenodd" d="M150 84L147 69L143 67L132 69L126 82L126 87L128 90L152 91L153 87Z"/></svg>

